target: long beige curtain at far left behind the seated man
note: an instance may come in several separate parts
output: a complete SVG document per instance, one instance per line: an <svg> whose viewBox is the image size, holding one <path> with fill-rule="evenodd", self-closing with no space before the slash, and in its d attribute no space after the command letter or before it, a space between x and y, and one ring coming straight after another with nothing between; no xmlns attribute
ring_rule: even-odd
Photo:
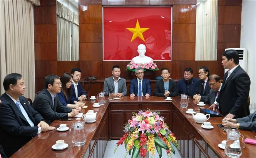
<svg viewBox="0 0 256 158"><path fill-rule="evenodd" d="M35 95L33 5L39 0L0 0L0 91L7 74L20 73L25 97Z"/></svg>

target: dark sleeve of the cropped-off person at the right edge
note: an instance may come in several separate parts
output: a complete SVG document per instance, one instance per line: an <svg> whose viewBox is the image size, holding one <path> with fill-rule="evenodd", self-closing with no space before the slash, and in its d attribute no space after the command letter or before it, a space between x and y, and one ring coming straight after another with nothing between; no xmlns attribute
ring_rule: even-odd
<svg viewBox="0 0 256 158"><path fill-rule="evenodd" d="M256 132L256 111L253 114L250 114L246 117L236 119L240 123L241 130L252 130Z"/></svg>

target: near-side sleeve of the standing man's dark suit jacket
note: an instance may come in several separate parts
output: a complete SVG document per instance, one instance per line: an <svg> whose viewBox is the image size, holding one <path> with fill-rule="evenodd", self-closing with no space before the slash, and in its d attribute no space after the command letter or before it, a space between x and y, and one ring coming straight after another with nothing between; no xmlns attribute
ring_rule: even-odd
<svg viewBox="0 0 256 158"><path fill-rule="evenodd" d="M234 104L234 106L232 107L232 109L230 110L230 114L233 115L238 115L239 114L239 109L241 106L247 106L247 104L244 104L247 99L248 99L248 95L249 95L249 91L250 91L250 78L248 76L248 74L243 73L239 76L236 77L235 80L235 84L236 84L236 93L238 95L236 102Z"/></svg>

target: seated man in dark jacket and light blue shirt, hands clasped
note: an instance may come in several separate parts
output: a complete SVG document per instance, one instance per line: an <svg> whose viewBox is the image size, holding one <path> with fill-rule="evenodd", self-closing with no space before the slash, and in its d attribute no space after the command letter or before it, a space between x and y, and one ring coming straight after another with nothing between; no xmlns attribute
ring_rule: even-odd
<svg viewBox="0 0 256 158"><path fill-rule="evenodd" d="M172 79L169 79L170 75L170 70L167 67L161 69L161 76L163 79L156 82L154 96L174 97L179 94L176 87L176 82Z"/></svg>

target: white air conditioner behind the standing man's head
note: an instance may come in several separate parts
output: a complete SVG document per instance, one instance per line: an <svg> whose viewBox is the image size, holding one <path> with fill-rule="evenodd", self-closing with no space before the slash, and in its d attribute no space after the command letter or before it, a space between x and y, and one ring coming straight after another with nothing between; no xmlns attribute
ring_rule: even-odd
<svg viewBox="0 0 256 158"><path fill-rule="evenodd" d="M226 48L226 50L234 49L239 54L239 65L244 69L245 72L247 72L247 49L246 48ZM225 69L226 73L228 69Z"/></svg>

